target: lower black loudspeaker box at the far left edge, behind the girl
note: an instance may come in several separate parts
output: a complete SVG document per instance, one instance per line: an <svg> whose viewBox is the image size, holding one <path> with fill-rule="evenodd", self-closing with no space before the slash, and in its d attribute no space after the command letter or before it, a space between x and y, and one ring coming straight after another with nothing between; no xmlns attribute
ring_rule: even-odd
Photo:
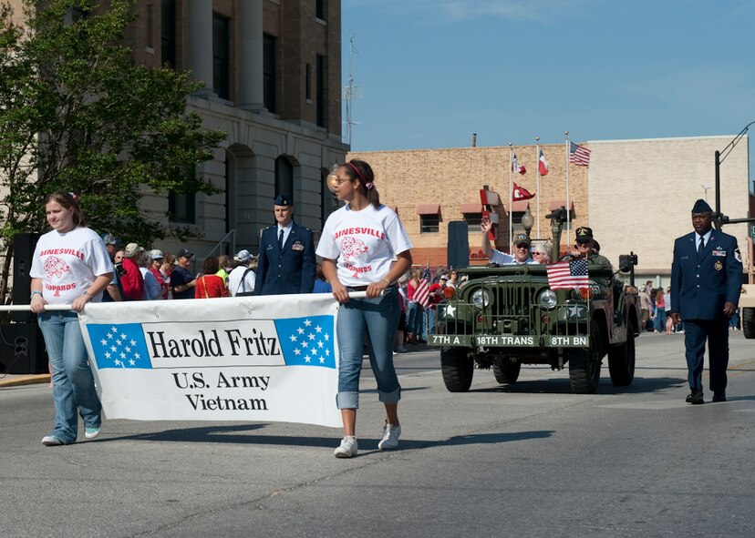
<svg viewBox="0 0 755 538"><path fill-rule="evenodd" d="M36 323L0 325L0 373L47 373L47 351Z"/></svg>

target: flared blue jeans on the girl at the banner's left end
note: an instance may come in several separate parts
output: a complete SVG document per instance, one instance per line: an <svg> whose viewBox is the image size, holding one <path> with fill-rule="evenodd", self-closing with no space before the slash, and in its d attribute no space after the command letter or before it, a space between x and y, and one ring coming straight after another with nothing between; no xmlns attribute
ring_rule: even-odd
<svg viewBox="0 0 755 538"><path fill-rule="evenodd" d="M98 428L102 422L94 376L89 370L87 349L72 311L38 314L39 329L45 337L47 356L52 367L55 429L52 435L66 444L76 442L78 413L87 428Z"/></svg>

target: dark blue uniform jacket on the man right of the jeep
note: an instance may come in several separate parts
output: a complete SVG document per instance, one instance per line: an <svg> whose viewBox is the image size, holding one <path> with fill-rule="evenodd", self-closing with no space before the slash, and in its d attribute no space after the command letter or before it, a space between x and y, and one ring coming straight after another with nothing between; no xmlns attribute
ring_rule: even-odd
<svg viewBox="0 0 755 538"><path fill-rule="evenodd" d="M671 311L682 320L725 320L725 302L739 304L742 258L737 239L713 229L698 255L695 232L674 243Z"/></svg>

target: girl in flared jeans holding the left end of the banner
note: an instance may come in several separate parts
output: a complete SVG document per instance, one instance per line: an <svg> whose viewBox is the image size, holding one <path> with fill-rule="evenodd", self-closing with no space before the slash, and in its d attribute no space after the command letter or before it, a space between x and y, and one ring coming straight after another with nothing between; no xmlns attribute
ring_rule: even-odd
<svg viewBox="0 0 755 538"><path fill-rule="evenodd" d="M47 446L76 442L79 413L87 439L98 436L102 423L78 312L89 301L102 299L115 269L105 243L84 226L77 200L63 191L47 197L45 210L52 230L36 243L29 271L31 310L37 314L52 367L55 427L42 438ZM70 304L72 310L45 310L54 304Z"/></svg>

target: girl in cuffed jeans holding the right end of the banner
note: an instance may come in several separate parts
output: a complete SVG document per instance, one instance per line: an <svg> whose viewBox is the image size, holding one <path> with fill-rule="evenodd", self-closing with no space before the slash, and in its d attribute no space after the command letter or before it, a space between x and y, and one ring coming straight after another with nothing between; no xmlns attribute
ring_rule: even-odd
<svg viewBox="0 0 755 538"><path fill-rule="evenodd" d="M380 204L375 176L366 162L347 162L328 183L346 206L327 218L316 253L323 258L323 275L341 303L336 322L340 352L336 404L344 421L344 438L335 454L351 458L357 455L359 372L366 334L370 365L387 415L378 448L398 446L401 387L393 367L393 340L401 311L394 283L411 267L411 243L398 215ZM349 299L349 291L366 291L367 299Z"/></svg>

